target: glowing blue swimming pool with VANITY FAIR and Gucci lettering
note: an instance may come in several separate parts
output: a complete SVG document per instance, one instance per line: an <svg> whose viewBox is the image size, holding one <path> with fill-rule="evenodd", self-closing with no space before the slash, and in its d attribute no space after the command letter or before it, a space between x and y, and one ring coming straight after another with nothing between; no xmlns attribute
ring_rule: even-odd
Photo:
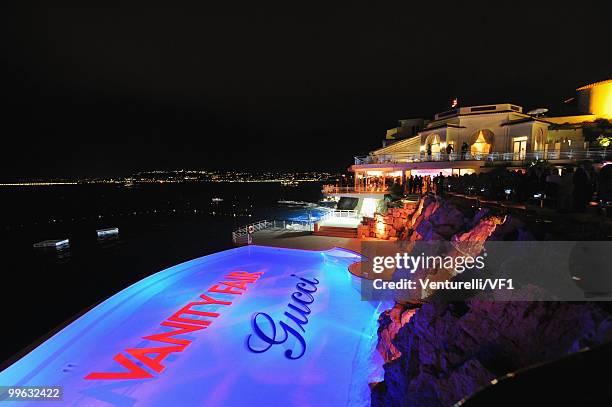
<svg viewBox="0 0 612 407"><path fill-rule="evenodd" d="M360 300L358 259L248 246L179 264L87 312L0 386L62 386L67 405L367 405L389 304Z"/></svg>

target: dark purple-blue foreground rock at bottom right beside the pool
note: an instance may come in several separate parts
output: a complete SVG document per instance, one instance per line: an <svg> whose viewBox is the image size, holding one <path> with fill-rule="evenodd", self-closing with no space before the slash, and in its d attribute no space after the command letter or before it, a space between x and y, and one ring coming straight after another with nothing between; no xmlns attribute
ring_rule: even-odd
<svg viewBox="0 0 612 407"><path fill-rule="evenodd" d="M450 406L496 377L610 340L610 315L591 304L434 300L391 340L372 405Z"/></svg>

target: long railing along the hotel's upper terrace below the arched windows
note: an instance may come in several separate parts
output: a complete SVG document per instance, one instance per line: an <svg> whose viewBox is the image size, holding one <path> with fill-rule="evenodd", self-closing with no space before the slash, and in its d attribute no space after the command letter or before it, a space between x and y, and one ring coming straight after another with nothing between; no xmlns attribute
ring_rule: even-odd
<svg viewBox="0 0 612 407"><path fill-rule="evenodd" d="M537 160L603 160L612 159L612 149L598 150L549 150L532 151L521 153L395 153L355 157L355 164L399 164L407 162L429 162L429 161L514 161L529 162Z"/></svg>

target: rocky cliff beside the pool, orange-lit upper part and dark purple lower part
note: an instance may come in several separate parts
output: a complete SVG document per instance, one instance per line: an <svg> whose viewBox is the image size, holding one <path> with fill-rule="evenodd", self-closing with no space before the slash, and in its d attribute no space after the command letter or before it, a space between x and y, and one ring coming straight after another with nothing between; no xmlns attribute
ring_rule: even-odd
<svg viewBox="0 0 612 407"><path fill-rule="evenodd" d="M532 239L519 219L432 197L406 222L408 239L469 242L473 253L486 240ZM537 288L528 294L537 298ZM483 294L448 302L433 293L385 311L378 335L385 376L372 405L449 406L497 377L612 340L612 318L593 304L493 302Z"/></svg>

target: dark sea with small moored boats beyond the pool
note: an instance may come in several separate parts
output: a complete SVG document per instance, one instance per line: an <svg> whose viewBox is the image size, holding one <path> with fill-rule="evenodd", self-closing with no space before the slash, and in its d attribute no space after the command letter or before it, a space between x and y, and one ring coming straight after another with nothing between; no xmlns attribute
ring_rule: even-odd
<svg viewBox="0 0 612 407"><path fill-rule="evenodd" d="M0 363L150 274L232 248L240 226L320 216L277 203L316 203L320 191L319 183L0 187ZM117 238L97 238L96 229L110 227ZM32 246L64 238L67 250Z"/></svg>

